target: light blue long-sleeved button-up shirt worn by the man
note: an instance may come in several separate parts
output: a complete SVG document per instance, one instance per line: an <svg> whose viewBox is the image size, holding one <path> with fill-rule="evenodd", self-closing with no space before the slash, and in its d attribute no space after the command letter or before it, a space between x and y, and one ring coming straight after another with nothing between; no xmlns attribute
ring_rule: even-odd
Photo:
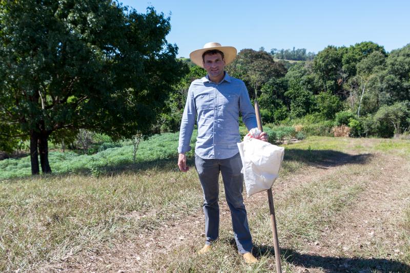
<svg viewBox="0 0 410 273"><path fill-rule="evenodd" d="M240 142L239 112L248 130L257 127L255 109L243 81L227 72L219 83L212 82L208 75L194 80L182 115L178 153L191 150L189 144L197 116L195 153L203 159L226 159L236 155L236 143Z"/></svg>

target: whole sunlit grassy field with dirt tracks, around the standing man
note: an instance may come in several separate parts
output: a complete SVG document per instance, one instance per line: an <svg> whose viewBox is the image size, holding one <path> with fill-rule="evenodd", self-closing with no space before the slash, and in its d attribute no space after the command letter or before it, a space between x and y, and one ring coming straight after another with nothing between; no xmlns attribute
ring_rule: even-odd
<svg viewBox="0 0 410 273"><path fill-rule="evenodd" d="M106 161L91 172L80 167L91 157L46 176L0 169L0 271L274 271L265 192L245 198L257 264L237 254L223 187L220 238L196 254L204 239L192 156L179 172L175 136L157 137L141 143L135 165L123 146L96 154ZM283 271L410 272L410 142L309 137L284 146L273 186Z"/></svg>

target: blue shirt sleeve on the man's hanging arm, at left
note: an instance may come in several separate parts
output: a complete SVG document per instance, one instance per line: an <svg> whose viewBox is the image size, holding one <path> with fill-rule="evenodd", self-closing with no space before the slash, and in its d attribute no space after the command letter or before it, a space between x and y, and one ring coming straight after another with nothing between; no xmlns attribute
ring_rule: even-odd
<svg viewBox="0 0 410 273"><path fill-rule="evenodd" d="M185 154L191 150L191 137L194 131L195 116L196 116L196 106L194 100L194 85L188 89L187 102L185 103L185 109L183 110L181 127L179 129L179 143L178 143L178 153Z"/></svg>

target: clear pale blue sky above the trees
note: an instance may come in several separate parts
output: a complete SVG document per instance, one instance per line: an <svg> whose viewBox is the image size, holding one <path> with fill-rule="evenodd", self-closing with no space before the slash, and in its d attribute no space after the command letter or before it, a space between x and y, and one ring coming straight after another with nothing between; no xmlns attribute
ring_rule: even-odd
<svg viewBox="0 0 410 273"><path fill-rule="evenodd" d="M119 0L145 13L148 6L171 17L169 43L179 57L209 41L239 50L305 48L374 41L387 51L410 43L410 1L170 1Z"/></svg>

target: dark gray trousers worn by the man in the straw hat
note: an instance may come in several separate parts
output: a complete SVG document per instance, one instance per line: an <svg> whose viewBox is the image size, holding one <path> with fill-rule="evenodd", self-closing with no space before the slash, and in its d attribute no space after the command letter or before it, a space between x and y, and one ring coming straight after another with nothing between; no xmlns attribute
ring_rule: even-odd
<svg viewBox="0 0 410 273"><path fill-rule="evenodd" d="M252 252L252 237L242 197L243 175L240 172L242 161L239 153L227 159L202 159L195 154L195 167L203 191L206 244L211 244L219 235L218 179L221 172L239 253Z"/></svg>

